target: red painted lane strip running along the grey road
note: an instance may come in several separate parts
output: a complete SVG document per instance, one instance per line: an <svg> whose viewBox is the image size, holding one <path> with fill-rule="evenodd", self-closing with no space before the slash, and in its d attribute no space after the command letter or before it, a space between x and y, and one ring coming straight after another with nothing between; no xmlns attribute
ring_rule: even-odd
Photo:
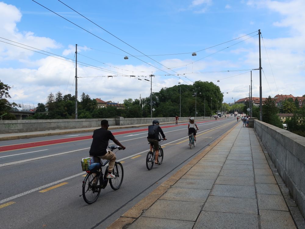
<svg viewBox="0 0 305 229"><path fill-rule="evenodd" d="M203 123L203 122L211 122L215 120L209 120L209 121L202 121L197 123ZM188 125L188 123L184 124L178 124L179 125ZM177 125L167 125L162 126L163 128L170 128ZM134 129L134 130L124 130L124 131L118 131L113 132L113 135L120 135L120 134L126 134L126 133L136 133L141 131L148 131L148 128L143 129ZM55 139L55 140L46 140L46 141L40 141L40 142L30 142L30 143L24 143L24 144L16 144L16 145L7 145L7 146L0 146L0 152L3 151L10 151L10 150L19 150L24 148L30 148L30 147L38 147L38 146L46 146L46 145L52 145L52 144L59 144L59 143L66 143L66 142L73 142L73 141L80 141L80 140L87 140L92 138L92 136L81 136L81 137L71 137L71 138L62 138L62 139Z"/></svg>

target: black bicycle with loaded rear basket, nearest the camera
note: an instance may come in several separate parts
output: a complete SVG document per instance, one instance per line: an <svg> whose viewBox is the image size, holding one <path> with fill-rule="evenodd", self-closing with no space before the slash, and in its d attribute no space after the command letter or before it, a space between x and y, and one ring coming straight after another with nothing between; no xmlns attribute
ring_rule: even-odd
<svg viewBox="0 0 305 229"><path fill-rule="evenodd" d="M121 150L121 147L114 147L112 145L110 148L112 151L117 149ZM117 151L116 151L117 152ZM114 152L114 153L116 153ZM90 168L89 171L87 172L86 177L83 180L83 194L80 196L83 196L84 201L88 204L94 203L97 198L99 198L99 194L102 189L105 189L108 184L113 190L117 190L120 188L122 182L123 182L123 177L124 177L124 170L123 166L120 162L115 162L112 173L115 175L115 178L108 179L107 178L107 171L108 171L108 166L106 167L105 174L102 172L102 167L104 167L109 160L107 160L104 164L102 164L100 161L99 162L94 162L88 167ZM84 162L82 162L82 167Z"/></svg>

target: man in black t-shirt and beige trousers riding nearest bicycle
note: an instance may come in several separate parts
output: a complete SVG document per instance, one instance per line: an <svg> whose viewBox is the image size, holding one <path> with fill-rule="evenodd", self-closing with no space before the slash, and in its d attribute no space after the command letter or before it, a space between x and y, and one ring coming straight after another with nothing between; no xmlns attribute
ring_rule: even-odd
<svg viewBox="0 0 305 229"><path fill-rule="evenodd" d="M117 159L116 155L109 150L109 140L112 140L115 144L122 147L122 149L126 149L120 142L113 136L111 131L108 130L109 124L106 119L101 121L101 128L94 130L92 135L92 143L90 147L90 157L97 157L103 160L109 160L109 167L107 178L115 178L112 173L115 160Z"/></svg>

